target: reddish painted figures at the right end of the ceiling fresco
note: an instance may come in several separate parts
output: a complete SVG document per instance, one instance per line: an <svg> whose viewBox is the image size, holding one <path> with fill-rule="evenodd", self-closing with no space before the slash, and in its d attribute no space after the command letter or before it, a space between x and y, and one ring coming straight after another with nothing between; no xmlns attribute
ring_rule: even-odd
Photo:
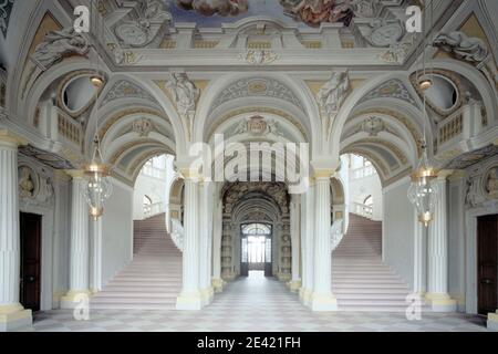
<svg viewBox="0 0 498 354"><path fill-rule="evenodd" d="M350 25L354 17L349 0L280 0L284 13L310 27L319 27L322 22L342 22Z"/></svg>

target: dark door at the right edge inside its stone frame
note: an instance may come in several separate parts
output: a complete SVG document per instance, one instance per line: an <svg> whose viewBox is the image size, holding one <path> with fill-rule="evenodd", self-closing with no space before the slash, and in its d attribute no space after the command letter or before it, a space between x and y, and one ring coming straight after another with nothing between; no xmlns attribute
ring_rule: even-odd
<svg viewBox="0 0 498 354"><path fill-rule="evenodd" d="M477 218L477 310L498 308L498 215Z"/></svg>

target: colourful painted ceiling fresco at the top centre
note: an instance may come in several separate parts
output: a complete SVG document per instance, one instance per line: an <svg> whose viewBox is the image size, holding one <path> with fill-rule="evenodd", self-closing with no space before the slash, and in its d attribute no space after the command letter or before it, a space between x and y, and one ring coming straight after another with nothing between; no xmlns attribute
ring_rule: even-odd
<svg viewBox="0 0 498 354"><path fill-rule="evenodd" d="M300 27L326 22L349 25L354 15L347 1L338 0L165 0L165 3L174 22L195 22L206 28L255 15Z"/></svg>

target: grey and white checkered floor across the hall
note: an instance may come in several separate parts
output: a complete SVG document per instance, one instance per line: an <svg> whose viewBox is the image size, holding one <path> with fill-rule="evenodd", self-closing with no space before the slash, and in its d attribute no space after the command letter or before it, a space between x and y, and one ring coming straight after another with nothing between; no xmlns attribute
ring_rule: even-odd
<svg viewBox="0 0 498 354"><path fill-rule="evenodd" d="M71 311L38 313L37 332L301 332L301 331L486 331L485 321L460 313L423 313L408 321L403 313L313 313L284 284L259 274L238 280L216 294L211 305L185 311L91 311L89 321L75 321Z"/></svg>

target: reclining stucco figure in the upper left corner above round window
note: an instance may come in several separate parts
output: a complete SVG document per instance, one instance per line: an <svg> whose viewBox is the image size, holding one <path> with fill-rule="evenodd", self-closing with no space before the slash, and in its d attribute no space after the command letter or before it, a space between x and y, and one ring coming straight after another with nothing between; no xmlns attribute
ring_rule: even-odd
<svg viewBox="0 0 498 354"><path fill-rule="evenodd" d="M53 64L60 62L64 55L71 53L85 55L89 49L86 39L80 33L76 33L71 27L46 33L43 41L34 49L31 60L42 71L45 71Z"/></svg>

